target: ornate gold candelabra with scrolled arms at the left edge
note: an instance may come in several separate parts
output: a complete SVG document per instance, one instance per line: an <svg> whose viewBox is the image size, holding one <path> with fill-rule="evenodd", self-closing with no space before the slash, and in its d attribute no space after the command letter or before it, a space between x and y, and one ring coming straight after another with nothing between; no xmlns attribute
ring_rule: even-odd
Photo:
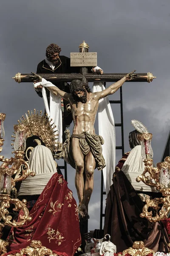
<svg viewBox="0 0 170 256"><path fill-rule="evenodd" d="M3 122L5 120L6 114L0 113L0 153L3 149L3 137L5 136L5 131L3 128ZM17 181L22 181L28 177L28 175L34 176L35 173L29 169L28 163L23 159L24 150L26 149L26 133L28 132L28 127L26 125L14 125L15 140L14 140L14 157L10 159L4 158L0 155L0 238L2 237L3 227L8 225L10 227L22 226L27 220L30 221L28 208L26 207L27 201L23 199L20 201L17 198L11 198L11 189L15 186ZM21 166L25 168L21 169ZM19 177L15 178L17 171L21 169ZM12 216L8 212L8 208L14 204L14 211L19 211L22 209L23 216L20 217L19 221L12 220ZM6 246L7 242L0 239L0 251ZM4 253L4 251L3 251Z"/></svg>

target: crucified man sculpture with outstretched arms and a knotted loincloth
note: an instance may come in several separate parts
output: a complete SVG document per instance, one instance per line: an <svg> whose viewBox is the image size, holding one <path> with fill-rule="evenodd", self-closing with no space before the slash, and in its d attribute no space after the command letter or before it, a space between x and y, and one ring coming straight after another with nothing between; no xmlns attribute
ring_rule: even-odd
<svg viewBox="0 0 170 256"><path fill-rule="evenodd" d="M97 167L98 170L102 170L105 167L101 145L104 141L102 137L95 134L94 130L99 99L115 93L125 81L134 79L137 76L134 74L135 71L127 74L107 89L96 93L92 93L90 87L79 80L73 80L70 84L71 93L65 93L51 82L35 74L42 83L41 85L40 83L34 84L34 87L47 87L51 93L62 97L71 105L74 121L73 134L70 138L68 130L66 130L65 143L57 151L56 158L64 157L76 169L75 185L79 198L79 214L83 219L89 218L87 209L94 186L94 169ZM84 171L86 173L85 184Z"/></svg>

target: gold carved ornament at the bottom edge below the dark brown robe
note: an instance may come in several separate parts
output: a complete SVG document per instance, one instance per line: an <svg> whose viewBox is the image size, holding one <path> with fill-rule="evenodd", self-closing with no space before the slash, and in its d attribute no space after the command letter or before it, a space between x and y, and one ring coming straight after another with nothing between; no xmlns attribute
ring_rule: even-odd
<svg viewBox="0 0 170 256"><path fill-rule="evenodd" d="M127 253L131 256L146 256L151 253L154 254L155 252L147 247L144 247L143 241L135 241L132 247L122 252L122 256L125 256ZM121 254L119 253L118 256L121 256Z"/></svg>

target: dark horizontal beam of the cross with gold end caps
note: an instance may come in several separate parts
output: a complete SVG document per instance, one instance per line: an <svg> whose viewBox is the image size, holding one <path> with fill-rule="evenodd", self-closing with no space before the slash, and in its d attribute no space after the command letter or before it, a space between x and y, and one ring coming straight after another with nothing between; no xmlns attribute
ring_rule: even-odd
<svg viewBox="0 0 170 256"><path fill-rule="evenodd" d="M82 69L82 68L81 68ZM81 70L82 71L82 70ZM83 70L84 71L84 70ZM86 71L86 70L85 70ZM83 74L81 74L83 73ZM67 81L70 82L74 79L79 79L84 82L116 82L122 77L124 77L127 73L104 73L103 75L91 74L86 72L81 73L72 73L72 74L40 74L44 79L55 82L55 81ZM137 77L130 82L151 82L156 78L152 73L138 73ZM28 83L33 82L35 77L32 74L21 74L17 73L12 79L14 79L18 83Z"/></svg>

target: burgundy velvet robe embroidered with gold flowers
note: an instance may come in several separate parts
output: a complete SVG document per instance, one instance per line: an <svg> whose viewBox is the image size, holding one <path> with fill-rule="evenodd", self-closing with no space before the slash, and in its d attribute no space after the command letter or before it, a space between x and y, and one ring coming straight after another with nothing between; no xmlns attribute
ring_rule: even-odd
<svg viewBox="0 0 170 256"><path fill-rule="evenodd" d="M18 218L22 214L20 211ZM31 240L40 240L51 250L74 255L81 244L78 208L62 175L55 173L51 177L30 216L31 221L11 229L10 251L25 248Z"/></svg>

